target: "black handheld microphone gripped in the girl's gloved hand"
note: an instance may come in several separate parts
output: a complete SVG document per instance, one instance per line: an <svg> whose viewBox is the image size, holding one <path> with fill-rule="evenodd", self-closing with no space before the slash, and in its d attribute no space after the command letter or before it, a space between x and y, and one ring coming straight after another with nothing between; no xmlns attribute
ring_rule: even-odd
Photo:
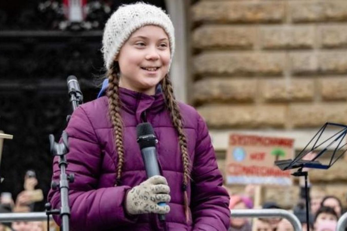
<svg viewBox="0 0 347 231"><path fill-rule="evenodd" d="M136 126L137 143L140 146L142 159L145 165L147 178L160 176L158 160L156 159L155 143L157 139L154 135L153 127L150 123L141 123ZM165 202L158 203L159 206L166 205ZM159 214L159 220L165 221L165 215Z"/></svg>

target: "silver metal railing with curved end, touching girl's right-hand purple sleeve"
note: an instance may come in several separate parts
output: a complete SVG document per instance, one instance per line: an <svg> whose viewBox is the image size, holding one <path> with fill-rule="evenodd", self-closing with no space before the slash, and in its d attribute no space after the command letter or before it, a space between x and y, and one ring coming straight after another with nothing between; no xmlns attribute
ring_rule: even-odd
<svg viewBox="0 0 347 231"><path fill-rule="evenodd" d="M282 217L293 225L294 231L301 231L299 219L287 210L282 209L240 209L230 210L231 217Z"/></svg>

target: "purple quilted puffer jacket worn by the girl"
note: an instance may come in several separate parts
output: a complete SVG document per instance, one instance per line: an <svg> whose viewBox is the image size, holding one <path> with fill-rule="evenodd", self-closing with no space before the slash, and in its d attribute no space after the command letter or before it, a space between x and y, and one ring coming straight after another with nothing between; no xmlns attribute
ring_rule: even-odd
<svg viewBox="0 0 347 231"><path fill-rule="evenodd" d="M69 191L71 230L227 230L229 196L222 187L222 176L206 124L196 110L179 104L192 161L192 180L187 187L191 217L187 223L178 136L165 108L163 95L149 96L120 88L120 99L125 152L120 186L115 187L117 153L108 117L107 97L79 106L65 130L70 146L66 156L69 163L67 172L75 174ZM127 190L147 179L136 142L136 125L143 122L143 113L159 140L156 146L159 167L170 186L171 210L166 215L166 222L160 222L157 214L129 216L124 209ZM59 174L55 158L53 180L58 180ZM58 190L51 190L48 199L53 208L60 207ZM55 219L60 223L58 217Z"/></svg>

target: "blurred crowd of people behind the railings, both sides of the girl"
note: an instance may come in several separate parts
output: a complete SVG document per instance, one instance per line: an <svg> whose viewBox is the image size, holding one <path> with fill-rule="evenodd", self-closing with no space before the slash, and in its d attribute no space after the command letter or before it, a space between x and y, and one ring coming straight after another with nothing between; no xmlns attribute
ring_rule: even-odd
<svg viewBox="0 0 347 231"><path fill-rule="evenodd" d="M314 231L335 231L339 217L343 214L344 208L339 198L333 195L324 195L322 192L312 192L310 194L310 219L306 220L305 210L305 194L303 182L299 182L301 187L299 202L290 210L297 216L302 224L302 230L307 230L307 225L310 225L310 230ZM14 201L11 193L4 192L0 197L0 213L10 212L32 212L35 202L43 199L41 195L34 195L33 192L39 192L36 188L37 179L32 170L28 170L24 177L24 190L20 192ZM254 208L252 186L247 187L244 194L230 195L229 208L237 209L252 209ZM251 193L250 193L251 192ZM42 191L41 191L42 193ZM36 193L39 194L39 193ZM34 196L33 196L34 195ZM262 208L277 208L282 209L276 202L265 202ZM255 226L255 229L252 227ZM47 230L46 221L17 221L0 223L0 231L45 231ZM51 222L50 230L58 231L59 227ZM249 219L243 217L233 217L231 213L229 231L294 231L293 225L286 219L280 217Z"/></svg>

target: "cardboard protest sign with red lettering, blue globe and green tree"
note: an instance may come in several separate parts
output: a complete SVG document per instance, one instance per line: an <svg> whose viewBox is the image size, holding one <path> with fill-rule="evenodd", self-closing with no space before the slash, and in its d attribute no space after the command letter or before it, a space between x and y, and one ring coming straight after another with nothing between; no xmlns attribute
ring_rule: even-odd
<svg viewBox="0 0 347 231"><path fill-rule="evenodd" d="M294 140L248 134L230 134L226 156L227 184L291 185L290 170L274 161L292 159Z"/></svg>

